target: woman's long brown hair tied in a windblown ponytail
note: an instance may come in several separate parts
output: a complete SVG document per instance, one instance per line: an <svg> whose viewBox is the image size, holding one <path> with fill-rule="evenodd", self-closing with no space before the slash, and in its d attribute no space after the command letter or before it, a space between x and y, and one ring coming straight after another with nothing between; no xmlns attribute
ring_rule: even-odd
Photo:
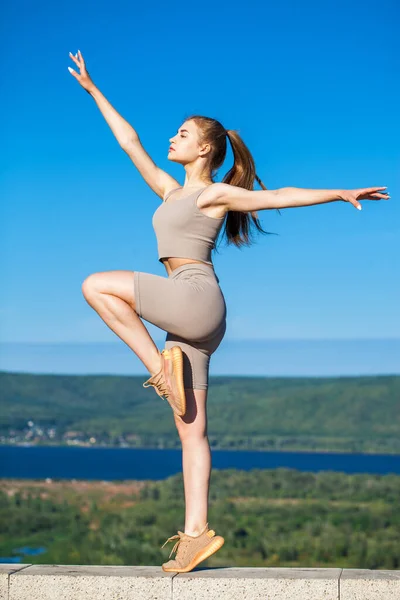
<svg viewBox="0 0 400 600"><path fill-rule="evenodd" d="M226 130L216 119L202 115L191 115L185 121L194 121L197 125L199 130L199 144L208 143L211 145L207 165L211 180L214 180L216 172L225 160L227 149L226 139L229 137L233 151L233 166L226 173L225 177L223 177L222 183L242 187L246 190L253 190L254 181L257 180L263 190L267 189L256 173L254 158L250 150L236 130ZM279 210L278 212L281 214ZM230 210L227 212L225 227L223 229L227 245L235 244L238 248L243 245L249 246L252 243L252 231L250 229L252 223L260 233L277 235L272 234L270 231L265 231L261 227L256 211L246 213Z"/></svg>

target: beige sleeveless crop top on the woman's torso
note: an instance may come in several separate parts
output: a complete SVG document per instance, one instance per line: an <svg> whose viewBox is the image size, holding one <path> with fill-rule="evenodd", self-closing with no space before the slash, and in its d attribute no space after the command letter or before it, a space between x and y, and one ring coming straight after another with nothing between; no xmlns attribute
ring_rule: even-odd
<svg viewBox="0 0 400 600"><path fill-rule="evenodd" d="M209 265L211 250L222 227L225 216L209 217L197 206L197 198L205 186L178 200L160 204L153 214L153 227L157 237L158 260L163 258L192 258Z"/></svg>

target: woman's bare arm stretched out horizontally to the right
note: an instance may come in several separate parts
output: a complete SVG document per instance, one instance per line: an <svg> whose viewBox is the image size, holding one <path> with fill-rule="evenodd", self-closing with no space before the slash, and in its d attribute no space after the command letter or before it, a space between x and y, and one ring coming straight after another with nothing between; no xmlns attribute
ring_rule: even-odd
<svg viewBox="0 0 400 600"><path fill-rule="evenodd" d="M361 210L359 200L388 200L384 187L359 188L355 190L314 190L284 187L277 190L245 190L225 183L218 184L220 202L227 210L253 212L272 208L297 208L325 202L342 200Z"/></svg>

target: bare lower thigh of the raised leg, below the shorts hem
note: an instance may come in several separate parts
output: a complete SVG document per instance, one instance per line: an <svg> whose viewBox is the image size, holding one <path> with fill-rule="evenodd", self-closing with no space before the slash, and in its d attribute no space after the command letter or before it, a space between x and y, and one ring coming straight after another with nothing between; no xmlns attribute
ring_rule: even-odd
<svg viewBox="0 0 400 600"><path fill-rule="evenodd" d="M117 296L125 300L136 310L135 290L134 290L135 271L103 271L89 275L82 284L82 291L85 296L91 293L103 293Z"/></svg>

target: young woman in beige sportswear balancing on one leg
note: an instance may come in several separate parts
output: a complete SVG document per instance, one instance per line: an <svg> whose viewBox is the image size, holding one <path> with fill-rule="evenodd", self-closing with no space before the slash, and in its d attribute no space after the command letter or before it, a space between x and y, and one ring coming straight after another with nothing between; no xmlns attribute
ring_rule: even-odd
<svg viewBox="0 0 400 600"><path fill-rule="evenodd" d="M208 528L211 471L207 438L207 388L211 355L226 329L226 305L214 272L211 251L224 225L228 243L249 243L249 226L265 232L257 211L344 201L361 210L360 200L388 199L385 187L318 190L285 187L267 190L257 177L252 155L236 131L194 115L170 138L168 158L183 165L184 185L159 169L138 134L93 83L80 51L70 57L80 69L71 74L94 98L122 149L162 199L153 216L159 260L168 277L141 271L95 273L83 282L87 302L140 358L151 377L143 384L165 396L182 442L185 527L168 538L177 543L164 571L187 572L224 543ZM214 183L227 140L234 164L224 183ZM261 190L253 190L257 180ZM251 219L251 221L250 221ZM160 352L141 318L167 332ZM165 542L165 543L167 543ZM170 554L170 556L171 556Z"/></svg>

